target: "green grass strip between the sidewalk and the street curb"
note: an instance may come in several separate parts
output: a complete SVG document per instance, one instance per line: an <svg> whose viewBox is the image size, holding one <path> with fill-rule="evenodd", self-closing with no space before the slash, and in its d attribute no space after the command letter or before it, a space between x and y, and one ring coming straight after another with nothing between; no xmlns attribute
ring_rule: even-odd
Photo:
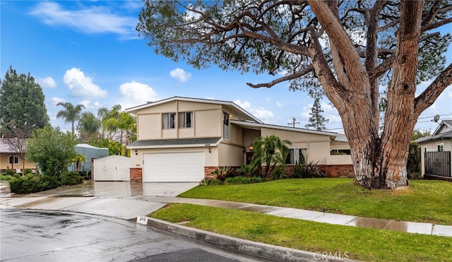
<svg viewBox="0 0 452 262"><path fill-rule="evenodd" d="M184 225L189 227L266 244L312 252L341 252L349 258L364 261L452 259L450 237L329 225L190 204L170 204L149 216L169 222L186 222Z"/></svg>

